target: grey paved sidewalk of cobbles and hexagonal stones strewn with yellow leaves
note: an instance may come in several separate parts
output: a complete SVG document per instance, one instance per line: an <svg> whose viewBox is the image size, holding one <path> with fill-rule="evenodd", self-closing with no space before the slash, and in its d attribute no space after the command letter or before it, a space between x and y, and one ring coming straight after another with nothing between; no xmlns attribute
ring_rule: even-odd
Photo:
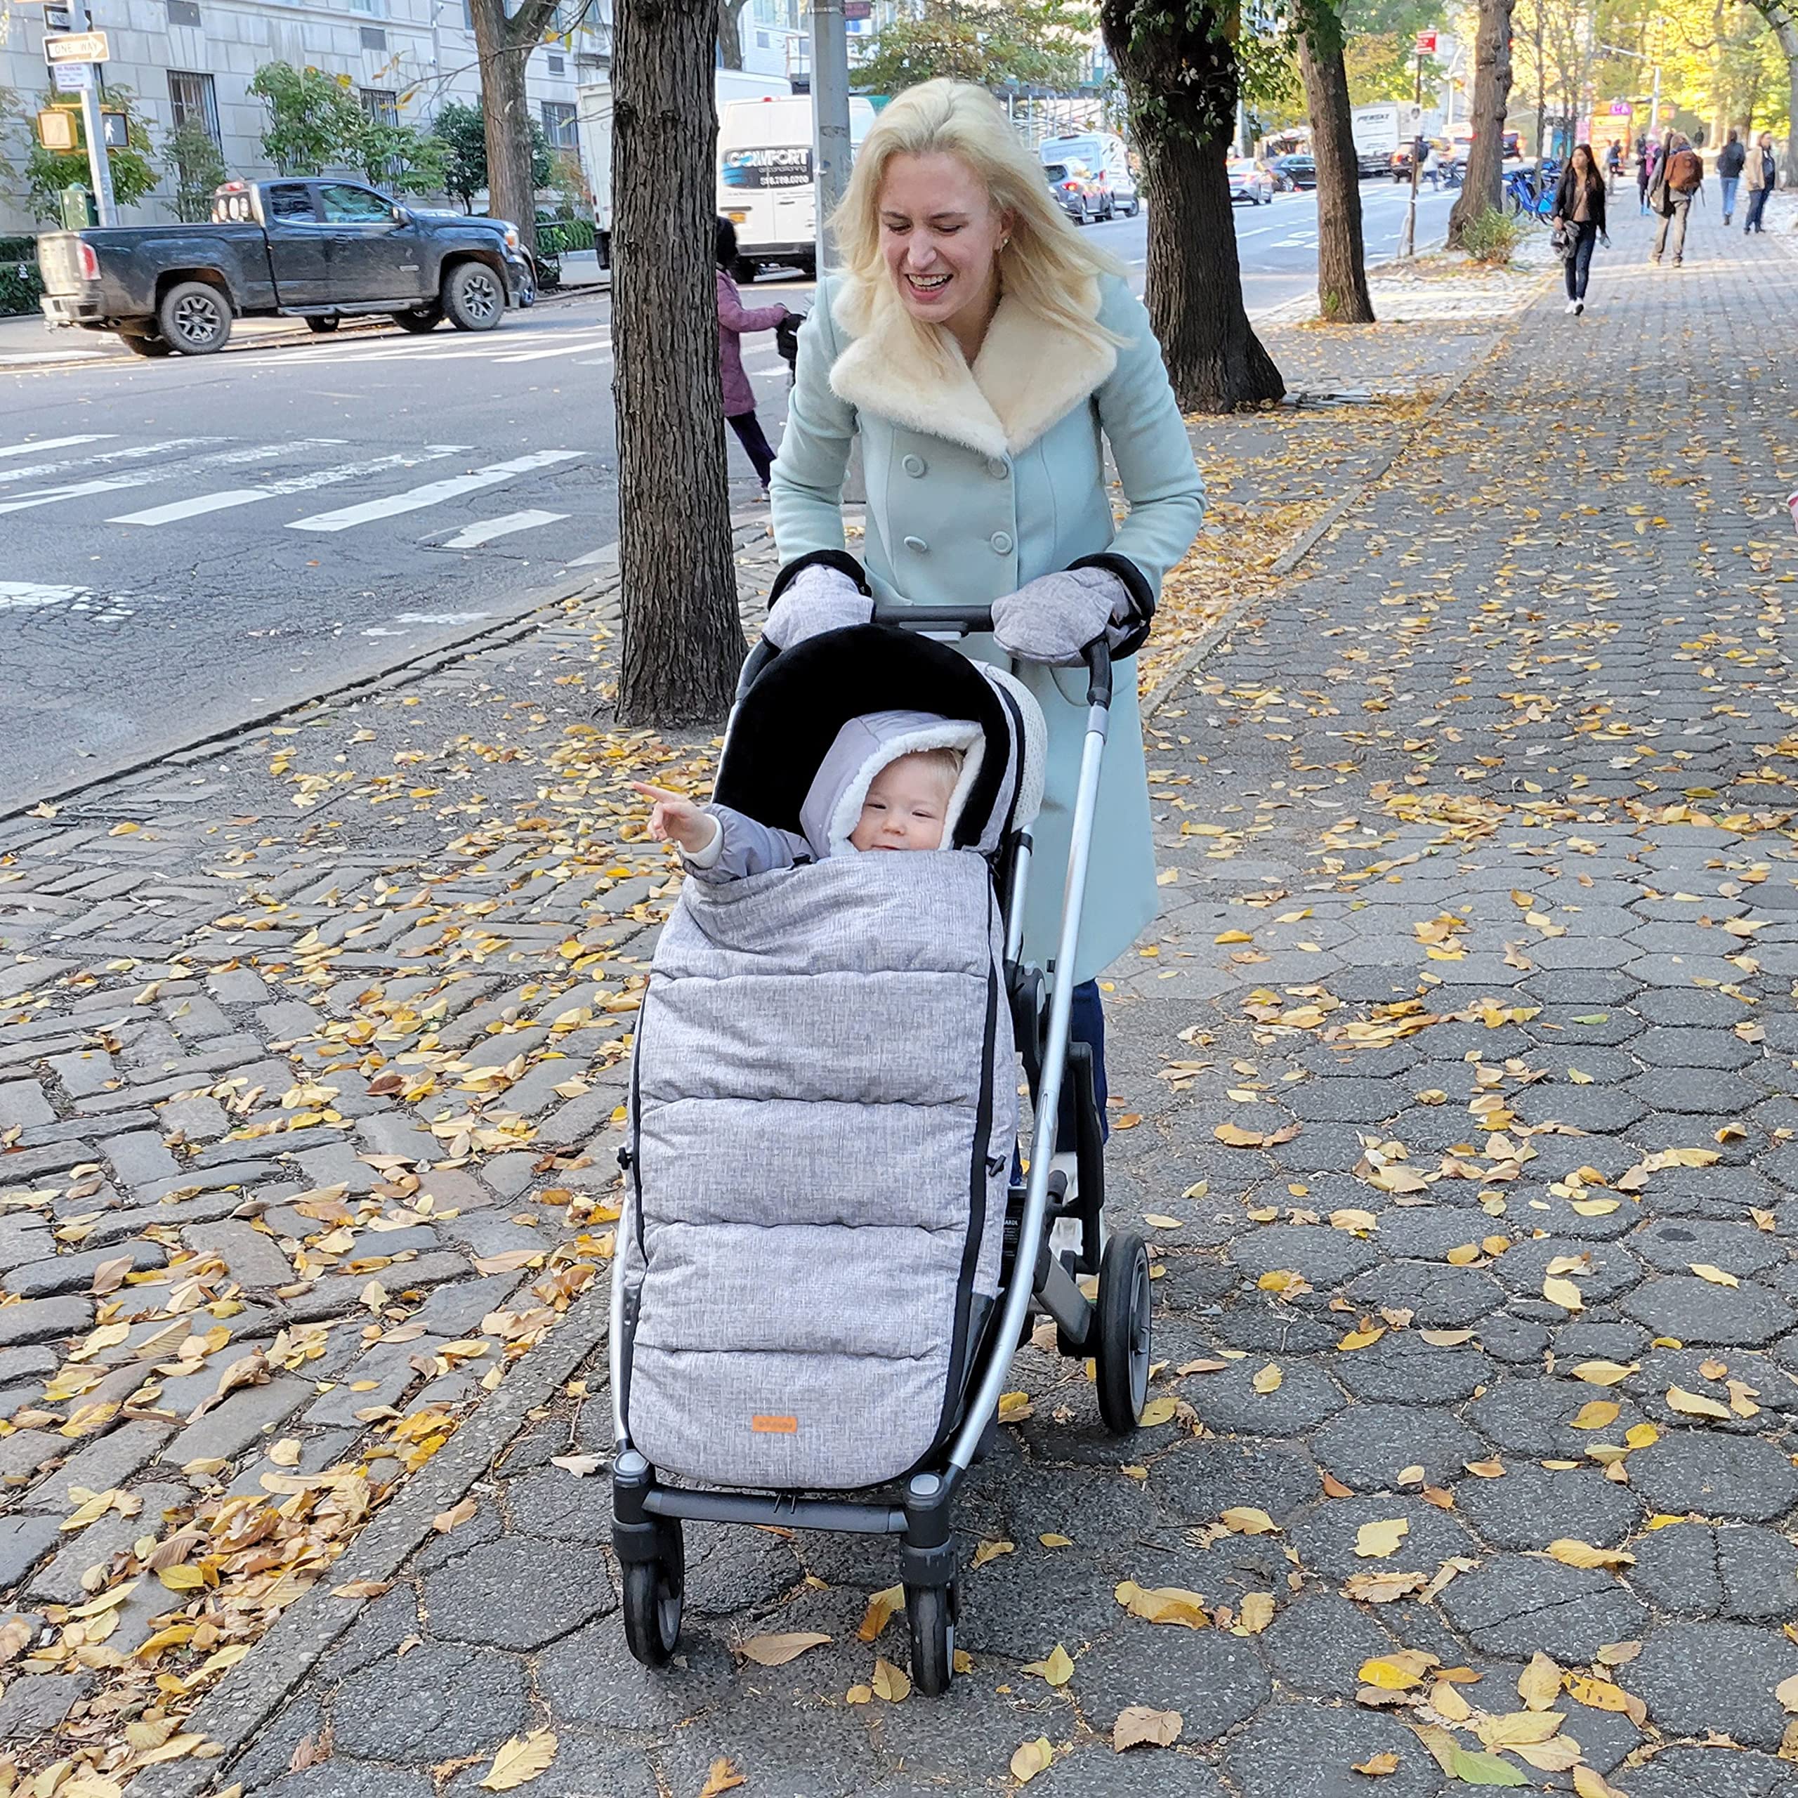
<svg viewBox="0 0 1798 1798"><path fill-rule="evenodd" d="M1793 1798L1798 467L1751 351L1798 268L1748 254L1600 264L1153 721L1167 908L1109 984L1156 1422L1120 1451L1023 1356L946 1701L877 1676L890 1562L779 1532L689 1532L642 1674L602 1350L529 1384L665 904L619 782L708 755L586 723L604 595L5 825L11 1749L129 1722L61 1798L473 1793L536 1730L543 1798L1000 1791L1039 1739L1106 1798ZM741 1656L786 1631L831 1640ZM219 1703L271 1715L194 1758L245 1652ZM1129 1706L1172 1746L1120 1755Z"/></svg>

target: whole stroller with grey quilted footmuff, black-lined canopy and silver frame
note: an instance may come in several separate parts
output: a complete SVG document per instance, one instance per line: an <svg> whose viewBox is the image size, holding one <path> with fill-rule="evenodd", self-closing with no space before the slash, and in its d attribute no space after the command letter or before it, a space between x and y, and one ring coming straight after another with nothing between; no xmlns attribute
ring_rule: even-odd
<svg viewBox="0 0 1798 1798"><path fill-rule="evenodd" d="M1030 967L1043 714L942 640L991 628L985 608L881 608L780 654L764 640L737 685L716 797L775 829L797 829L852 717L930 710L978 737L949 852L689 879L656 949L611 1289L613 1546L647 1667L680 1636L683 1519L843 1530L899 1537L912 1681L946 1692L953 1505L1032 1313L1093 1357L1109 1431L1142 1415L1149 1255L1102 1228L1091 1050L1070 1043L1057 973L1079 942L1111 660L1102 638L1086 651L1061 937ZM1079 1246L1052 1251L1055 1226Z"/></svg>

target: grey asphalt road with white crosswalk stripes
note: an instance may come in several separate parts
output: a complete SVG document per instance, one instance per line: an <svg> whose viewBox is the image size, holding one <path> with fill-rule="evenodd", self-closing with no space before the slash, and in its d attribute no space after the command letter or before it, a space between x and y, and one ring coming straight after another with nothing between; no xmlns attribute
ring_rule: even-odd
<svg viewBox="0 0 1798 1798"><path fill-rule="evenodd" d="M1404 200L1392 183L1363 187L1370 257L1397 248ZM1422 196L1419 243L1447 207L1447 194ZM1309 289L1314 194L1239 207L1235 225L1251 311ZM1090 230L1140 280L1147 218ZM768 279L753 297L804 307L809 288ZM487 336L345 331L210 358L7 363L0 806L572 586L617 538L608 320L606 297L588 293ZM752 340L746 361L779 441L773 340ZM730 471L734 505L753 507L735 444Z"/></svg>

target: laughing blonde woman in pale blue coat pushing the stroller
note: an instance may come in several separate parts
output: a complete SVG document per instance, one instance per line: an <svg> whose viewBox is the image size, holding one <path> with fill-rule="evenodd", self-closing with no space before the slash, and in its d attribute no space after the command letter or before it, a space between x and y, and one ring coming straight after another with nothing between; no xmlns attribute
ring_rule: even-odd
<svg viewBox="0 0 1798 1798"><path fill-rule="evenodd" d="M982 660L1025 663L1048 719L1027 953L1055 951L1086 730L1081 649L1108 633L1117 698L1073 967L1093 1045L1095 975L1158 910L1135 651L1205 489L1149 316L1088 248L984 90L928 81L881 111L836 216L843 268L818 288L773 476L768 636L788 647L874 601L992 608ZM1129 502L1113 523L1100 439ZM843 548L861 444L865 561ZM872 595L872 599L870 599Z"/></svg>

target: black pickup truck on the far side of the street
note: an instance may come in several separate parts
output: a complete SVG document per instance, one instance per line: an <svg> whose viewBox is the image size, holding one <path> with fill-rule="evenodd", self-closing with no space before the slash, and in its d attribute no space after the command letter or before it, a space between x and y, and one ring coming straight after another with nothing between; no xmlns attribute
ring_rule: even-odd
<svg viewBox="0 0 1798 1798"><path fill-rule="evenodd" d="M38 266L52 325L117 331L138 356L205 356L232 318L277 313L315 331L356 313L491 331L538 295L514 225L333 180L228 182L210 225L49 232Z"/></svg>

